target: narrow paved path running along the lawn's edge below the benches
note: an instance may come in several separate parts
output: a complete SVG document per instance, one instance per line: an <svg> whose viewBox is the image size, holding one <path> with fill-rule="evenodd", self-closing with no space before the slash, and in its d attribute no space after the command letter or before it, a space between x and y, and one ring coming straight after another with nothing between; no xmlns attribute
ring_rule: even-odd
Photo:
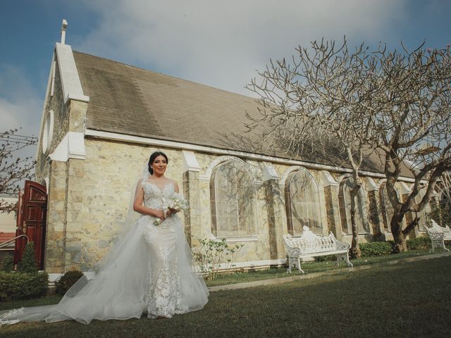
<svg viewBox="0 0 451 338"><path fill-rule="evenodd" d="M353 268L342 268L342 269L337 269L337 270L323 271L322 273L307 273L305 275L295 275L295 276L288 276L288 277L273 278L272 280L256 280L254 282L218 285L216 287L209 287L209 291L215 292L215 291L221 291L221 290L245 289L247 287L261 287L262 285L294 282L295 280L306 280L309 278L316 278L316 277L320 277L320 276L324 276L324 275L336 275L338 273L344 273L344 272L352 273L355 271L371 269L373 267L378 267L378 266L383 266L383 265L394 265L397 263L404 263L404 262L425 261L427 259L433 259L433 258L439 258L439 257L445 257L445 256L451 256L451 253L450 252L433 253L431 255L401 258L401 259L396 259L395 261L388 261L388 262L383 262L383 263L374 263L374 264L368 264L368 265L354 266Z"/></svg>

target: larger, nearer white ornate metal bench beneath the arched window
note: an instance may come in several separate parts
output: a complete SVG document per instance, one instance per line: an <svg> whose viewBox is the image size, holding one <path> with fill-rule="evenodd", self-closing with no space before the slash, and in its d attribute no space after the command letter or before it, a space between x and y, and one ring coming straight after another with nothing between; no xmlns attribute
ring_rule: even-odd
<svg viewBox="0 0 451 338"><path fill-rule="evenodd" d="M351 244L338 242L332 232L328 236L319 236L304 226L304 232L301 237L285 234L283 242L288 253L288 273L291 273L291 268L293 267L304 273L304 270L301 268L301 262L305 258L326 255L335 255L337 264L342 259L347 263L347 266L352 266L348 256Z"/></svg>

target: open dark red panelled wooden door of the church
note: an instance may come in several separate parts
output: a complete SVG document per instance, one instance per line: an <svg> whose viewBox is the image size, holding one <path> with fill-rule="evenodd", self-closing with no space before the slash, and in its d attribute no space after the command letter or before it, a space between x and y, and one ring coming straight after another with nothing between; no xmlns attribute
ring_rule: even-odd
<svg viewBox="0 0 451 338"><path fill-rule="evenodd" d="M45 220L47 215L47 191L44 186L25 181L25 189L19 194L16 236L26 234L35 244L35 258L39 270L44 268ZM14 263L22 259L26 239L16 239Z"/></svg>

